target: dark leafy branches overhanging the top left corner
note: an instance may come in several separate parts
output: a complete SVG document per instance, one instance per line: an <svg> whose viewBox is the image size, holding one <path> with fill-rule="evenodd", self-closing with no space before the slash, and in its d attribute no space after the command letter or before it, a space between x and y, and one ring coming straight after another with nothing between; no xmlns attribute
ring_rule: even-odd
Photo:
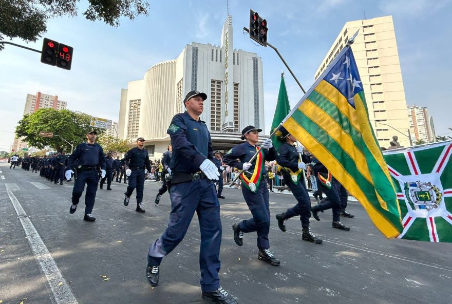
<svg viewBox="0 0 452 304"><path fill-rule="evenodd" d="M79 0L0 0L0 40L8 37L34 42L47 30L47 21L54 17L77 16ZM90 21L101 20L119 26L121 17L133 20L147 15L146 0L88 0L83 13ZM0 45L0 50L3 46Z"/></svg>

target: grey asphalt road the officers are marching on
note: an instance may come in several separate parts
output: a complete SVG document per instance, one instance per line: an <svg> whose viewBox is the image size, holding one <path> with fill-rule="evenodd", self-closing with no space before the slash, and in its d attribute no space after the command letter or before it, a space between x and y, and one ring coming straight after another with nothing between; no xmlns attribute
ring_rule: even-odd
<svg viewBox="0 0 452 304"><path fill-rule="evenodd" d="M196 214L184 240L163 259L159 286L151 288L145 279L148 246L169 219L168 194L159 205L150 202L160 183L145 182L145 214L135 212L135 193L123 205L125 184L98 189L97 220L90 223L82 220L83 202L69 214L72 183L54 185L6 164L0 171L3 303L203 303ZM223 195L221 286L239 303L452 303L450 243L386 239L356 202L347 208L355 218L342 219L351 231L332 229L325 211L320 222L311 218L324 243L309 243L297 218L287 222L287 232L278 229L275 214L294 198L272 193L269 239L281 260L273 267L257 259L255 234L246 234L242 247L234 243L231 225L251 214L241 191L224 189Z"/></svg>

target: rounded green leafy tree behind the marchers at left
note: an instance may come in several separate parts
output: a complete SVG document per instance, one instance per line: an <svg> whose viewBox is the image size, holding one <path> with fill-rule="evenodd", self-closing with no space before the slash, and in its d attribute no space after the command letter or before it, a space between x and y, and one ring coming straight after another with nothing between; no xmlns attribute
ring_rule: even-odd
<svg viewBox="0 0 452 304"><path fill-rule="evenodd" d="M55 110L45 108L34 113L24 115L16 126L17 136L25 137L24 141L30 146L43 149L50 146L61 152L63 149L70 150L70 145L58 136L41 137L40 131L53 132L70 143L74 148L81 142L86 141L86 132L90 129L91 116L82 112L70 110ZM99 130L101 133L102 130Z"/></svg>

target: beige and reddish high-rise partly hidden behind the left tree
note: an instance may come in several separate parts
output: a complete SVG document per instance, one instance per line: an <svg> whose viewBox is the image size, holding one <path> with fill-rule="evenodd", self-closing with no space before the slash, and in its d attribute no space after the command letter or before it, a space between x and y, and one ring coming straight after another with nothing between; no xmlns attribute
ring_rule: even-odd
<svg viewBox="0 0 452 304"><path fill-rule="evenodd" d="M58 96L52 96L37 92L36 95L27 94L24 106L24 115L34 113L42 108L54 108L55 110L65 109L67 102L58 100ZM14 142L11 146L11 151L20 151L23 148L28 147L27 142L23 142L24 138L14 138Z"/></svg>

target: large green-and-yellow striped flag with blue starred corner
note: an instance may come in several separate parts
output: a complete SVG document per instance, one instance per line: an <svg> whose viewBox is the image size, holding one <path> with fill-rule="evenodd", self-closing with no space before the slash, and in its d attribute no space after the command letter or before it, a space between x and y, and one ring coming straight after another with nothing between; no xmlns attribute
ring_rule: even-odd
<svg viewBox="0 0 452 304"><path fill-rule="evenodd" d="M364 206L386 237L403 231L396 189L370 125L350 46L337 54L283 126Z"/></svg>

